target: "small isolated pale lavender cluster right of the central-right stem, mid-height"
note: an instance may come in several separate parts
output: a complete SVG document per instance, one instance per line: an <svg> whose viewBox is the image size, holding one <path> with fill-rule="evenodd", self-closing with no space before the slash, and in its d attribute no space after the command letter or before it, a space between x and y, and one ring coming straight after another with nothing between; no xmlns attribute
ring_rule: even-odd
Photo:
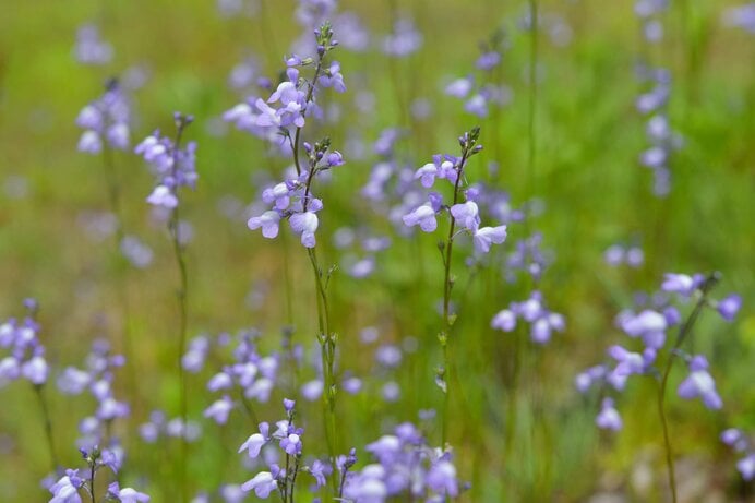
<svg viewBox="0 0 755 503"><path fill-rule="evenodd" d="M548 343L554 331L563 332L566 327L564 316L548 310L542 294L538 290L532 291L529 299L523 302L511 302L508 309L503 309L493 316L490 325L503 332L513 332L517 319L530 324L530 337L538 344Z"/></svg>

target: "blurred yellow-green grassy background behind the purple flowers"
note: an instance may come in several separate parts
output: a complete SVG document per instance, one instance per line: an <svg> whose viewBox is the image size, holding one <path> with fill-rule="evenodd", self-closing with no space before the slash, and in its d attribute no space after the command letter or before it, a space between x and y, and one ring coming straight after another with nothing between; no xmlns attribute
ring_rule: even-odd
<svg viewBox="0 0 755 503"><path fill-rule="evenodd" d="M480 125L484 151L469 177L507 192L512 208L527 207L529 217L510 225L487 267L467 267L464 253L454 263L450 442L459 478L471 483L460 501L662 501L654 383L630 386L618 403L624 430L606 434L595 427L598 397L580 396L573 382L621 340L614 316L637 292L656 290L666 272L711 271L722 274L720 295L736 291L744 304L735 323L706 314L695 328L694 350L711 361L723 410L669 398L680 494L755 501L735 454L719 441L729 426L755 431L755 8L747 19L740 2L680 0L648 26L638 4L538 1L534 36L525 1L338 2L341 47L333 57L348 89L323 93L324 119L309 137L328 135L347 161L319 194L325 209L317 231L323 263L339 267L329 289L338 369L363 384L339 396L340 452L441 407L433 382L441 361L439 238L396 231L384 205L363 196L371 170L385 160L375 142L398 128L391 161L416 169L433 154L457 154L457 136ZM149 411L177 409L178 274L164 224L145 203L152 176L132 148L112 158L123 227L139 243L123 264L103 159L77 152L75 120L111 77L132 107L132 145L156 128L170 134L173 111L194 116L187 137L199 145L200 181L185 192L181 215L190 225L189 336L253 327L271 352L293 327L292 340L305 348L300 375L281 378L256 409L275 420L280 399L316 379L314 286L295 236L269 241L245 225L261 190L290 161L221 116L248 95L262 96L259 77L279 81L284 56L311 32L297 9L286 0L4 0L1 8L0 319L23 315L24 298L38 300L51 381L81 366L95 339L127 354L116 386L132 414L113 426L128 453L121 478L153 501L171 501L166 480L178 446L147 444L137 430ZM104 53L82 62L76 47L93 36ZM500 63L476 67L490 51ZM650 68L670 75L664 111L679 137L664 196L654 193L663 188L643 166L648 117L636 104ZM469 75L489 85L484 110L447 92ZM349 244L349 232L391 245L367 253ZM536 232L547 271L534 284L506 264L517 242ZM643 250L644 261L612 266L604 253L614 244ZM490 328L499 310L534 287L564 314L564 333L538 346L526 332ZM398 352L397 362L386 361L385 347ZM238 410L223 428L202 418L214 399L206 380L221 364L208 359L189 376L190 412L203 430L191 447L192 491L212 501L221 501L221 483L251 477L236 451L255 431ZM685 374L681 367L673 383ZM58 457L76 466L77 426L94 402L57 393L53 383L46 396ZM316 445L320 404L301 402ZM0 388L0 500L45 501L43 428L28 383ZM427 428L439 438L436 422Z"/></svg>

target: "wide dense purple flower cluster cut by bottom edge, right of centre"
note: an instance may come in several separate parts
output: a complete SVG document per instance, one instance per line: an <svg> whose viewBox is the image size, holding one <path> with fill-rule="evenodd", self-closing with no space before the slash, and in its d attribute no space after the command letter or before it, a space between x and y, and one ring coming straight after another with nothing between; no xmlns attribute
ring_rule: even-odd
<svg viewBox="0 0 755 503"><path fill-rule="evenodd" d="M443 502L459 495L462 487L450 451L428 445L422 433L409 422L398 424L394 434L367 446L376 459L345 476L347 501L383 503L392 499L422 499Z"/></svg>

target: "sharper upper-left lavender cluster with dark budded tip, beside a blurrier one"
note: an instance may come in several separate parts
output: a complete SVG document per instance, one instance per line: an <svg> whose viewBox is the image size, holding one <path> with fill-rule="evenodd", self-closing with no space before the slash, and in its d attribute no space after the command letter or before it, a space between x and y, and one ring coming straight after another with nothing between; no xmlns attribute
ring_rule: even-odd
<svg viewBox="0 0 755 503"><path fill-rule="evenodd" d="M147 197L154 206L173 209L178 206L178 190L181 187L194 189L196 185L196 143L189 142L181 148L183 130L194 120L191 116L176 112L173 115L177 135L176 141L155 131L136 145L134 152L146 160L157 179L157 184Z"/></svg>

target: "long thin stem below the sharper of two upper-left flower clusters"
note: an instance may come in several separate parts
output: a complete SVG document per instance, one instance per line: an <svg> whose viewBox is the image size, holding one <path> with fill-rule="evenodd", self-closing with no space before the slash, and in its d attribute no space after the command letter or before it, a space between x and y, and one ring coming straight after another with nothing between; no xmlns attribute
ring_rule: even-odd
<svg viewBox="0 0 755 503"><path fill-rule="evenodd" d="M178 171L178 152L181 146L181 136L183 134L183 129L189 124L184 119L178 121L176 142L173 144L173 164L172 164L172 176L177 179ZM179 287L177 291L178 307L179 307L179 331L178 331L178 381L179 381L179 411L181 416L181 426L183 428L181 435L181 459L179 460L180 469L180 483L181 483L181 500L188 501L188 489L187 489L187 463L189 457L189 441L185 436L187 420L189 416L189 404L187 396L187 383L185 383L185 372L183 370L183 354L187 350L187 320L188 320L188 303L187 296L189 290L189 275L187 273L185 256L183 254L183 247L181 245L181 240L179 236L180 226L180 213L179 206L172 208L170 213L170 220L168 223L168 229L170 231L170 238L173 243L173 255L176 258L176 266L179 273Z"/></svg>

